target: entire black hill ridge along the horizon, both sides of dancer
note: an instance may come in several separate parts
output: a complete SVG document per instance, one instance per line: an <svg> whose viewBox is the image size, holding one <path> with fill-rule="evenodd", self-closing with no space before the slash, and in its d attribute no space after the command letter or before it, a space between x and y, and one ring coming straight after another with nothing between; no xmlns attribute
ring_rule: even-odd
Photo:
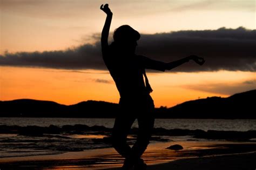
<svg viewBox="0 0 256 170"><path fill-rule="evenodd" d="M256 119L255 97L256 90L251 90L228 98L186 101L171 108L156 108L156 118ZM0 101L0 117L113 118L116 114L122 114L118 104L105 101L88 100L75 105L32 99Z"/></svg>

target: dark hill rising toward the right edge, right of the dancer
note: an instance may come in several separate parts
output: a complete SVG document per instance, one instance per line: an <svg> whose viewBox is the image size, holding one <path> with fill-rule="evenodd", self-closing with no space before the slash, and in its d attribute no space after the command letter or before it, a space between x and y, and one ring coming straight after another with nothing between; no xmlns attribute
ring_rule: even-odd
<svg viewBox="0 0 256 170"><path fill-rule="evenodd" d="M171 108L157 108L160 118L256 119L256 90L227 98L207 97L186 101Z"/></svg>

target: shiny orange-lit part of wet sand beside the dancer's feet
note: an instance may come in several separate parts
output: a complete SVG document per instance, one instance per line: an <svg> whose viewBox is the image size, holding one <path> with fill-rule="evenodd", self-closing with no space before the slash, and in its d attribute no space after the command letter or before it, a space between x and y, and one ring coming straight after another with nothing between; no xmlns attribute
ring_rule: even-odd
<svg viewBox="0 0 256 170"><path fill-rule="evenodd" d="M184 149L173 151L166 149L171 145L179 144ZM171 141L152 142L142 158L147 165L160 164L184 158L212 157L215 154L235 153L233 147L224 149L227 144L237 145L231 141ZM239 144L242 144L239 142ZM245 142L246 144L246 142ZM250 144L252 144L250 142ZM241 147L241 146L240 146ZM240 148L239 147L239 148ZM244 146L242 146L244 147ZM221 148L221 149L220 149ZM246 148L246 147L244 147ZM221 151L222 150L222 151ZM8 159L2 159L2 161ZM9 158L9 161L13 159ZM17 158L15 158L17 161ZM37 160L44 165L43 169L105 169L121 167L124 159L113 148L89 149L82 152L68 152L59 155L40 155L34 157L19 158L23 162L33 162ZM36 162L37 164L37 162ZM38 163L39 164L39 163ZM31 167L25 164L23 167ZM37 165L35 165L37 166Z"/></svg>

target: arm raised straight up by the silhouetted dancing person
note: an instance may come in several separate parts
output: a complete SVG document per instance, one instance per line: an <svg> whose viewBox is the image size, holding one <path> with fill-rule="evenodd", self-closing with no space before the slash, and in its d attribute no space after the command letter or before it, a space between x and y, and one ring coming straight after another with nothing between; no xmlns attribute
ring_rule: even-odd
<svg viewBox="0 0 256 170"><path fill-rule="evenodd" d="M104 55L104 53L107 51L107 48L109 46L109 44L107 43L107 39L109 38L109 30L110 30L113 13L109 9L109 4L101 5L100 9L103 10L107 15L106 21L102 30L102 38L101 38L102 53Z"/></svg>

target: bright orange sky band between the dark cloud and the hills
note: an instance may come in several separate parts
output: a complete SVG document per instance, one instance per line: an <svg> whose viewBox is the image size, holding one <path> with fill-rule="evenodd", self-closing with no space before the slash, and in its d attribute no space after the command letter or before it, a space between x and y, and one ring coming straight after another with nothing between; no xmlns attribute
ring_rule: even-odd
<svg viewBox="0 0 256 170"><path fill-rule="evenodd" d="M20 98L76 104L85 100L118 103L119 94L110 74L96 70L56 70L0 67L0 100ZM253 72L148 73L156 107L173 106L186 100L255 89ZM99 80L105 80L104 83ZM243 89L244 87L244 89ZM214 89L215 88L215 89ZM240 91L239 91L240 90Z"/></svg>

